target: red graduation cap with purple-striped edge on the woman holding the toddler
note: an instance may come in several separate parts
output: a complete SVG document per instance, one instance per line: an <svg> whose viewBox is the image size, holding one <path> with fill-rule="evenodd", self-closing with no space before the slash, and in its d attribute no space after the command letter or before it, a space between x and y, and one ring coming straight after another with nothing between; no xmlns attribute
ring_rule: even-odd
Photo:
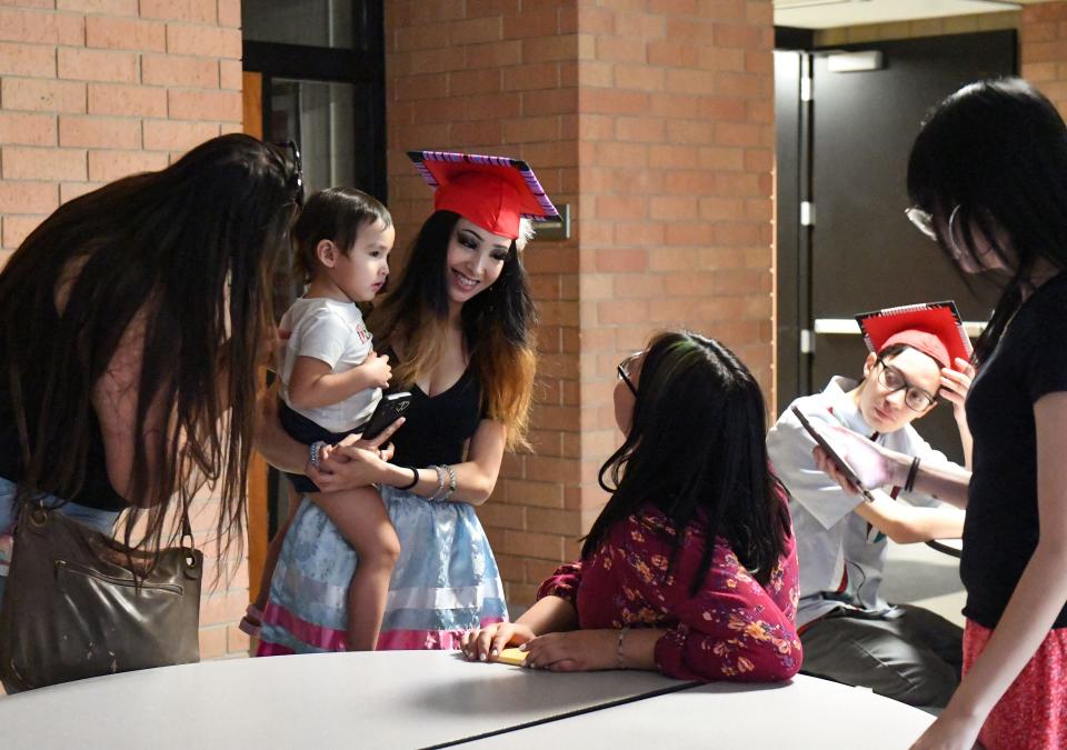
<svg viewBox="0 0 1067 750"><path fill-rule="evenodd" d="M515 240L520 219L559 216L525 161L449 151L408 151L408 157L435 189L435 210L455 211L493 234Z"/></svg>

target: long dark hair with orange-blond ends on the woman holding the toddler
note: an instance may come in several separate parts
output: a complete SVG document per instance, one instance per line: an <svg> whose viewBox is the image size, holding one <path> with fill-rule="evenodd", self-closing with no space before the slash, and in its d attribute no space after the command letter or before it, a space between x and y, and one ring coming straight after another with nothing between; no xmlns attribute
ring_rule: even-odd
<svg viewBox="0 0 1067 750"><path fill-rule="evenodd" d="M448 247L459 214L436 211L408 252L396 290L370 317L383 348L399 338L403 357L392 368L396 384L410 388L441 359L448 327ZM462 308L463 343L470 353L490 419L508 428L509 449L526 447L534 373L536 312L526 270L512 241L500 277Z"/></svg>

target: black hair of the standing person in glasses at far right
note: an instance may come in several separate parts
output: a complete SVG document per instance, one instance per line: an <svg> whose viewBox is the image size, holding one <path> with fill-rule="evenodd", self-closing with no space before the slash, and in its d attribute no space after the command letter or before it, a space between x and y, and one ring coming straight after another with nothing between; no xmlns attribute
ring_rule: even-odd
<svg viewBox="0 0 1067 750"><path fill-rule="evenodd" d="M939 243L951 212L960 250L974 254L971 227L1011 269L976 359L993 352L1029 289L1035 263L1067 268L1067 128L1056 108L1018 78L979 81L949 96L928 117L908 161L911 200L939 220ZM958 209L956 207L959 207ZM997 228L1011 247L995 242ZM949 253L950 254L950 253Z"/></svg>

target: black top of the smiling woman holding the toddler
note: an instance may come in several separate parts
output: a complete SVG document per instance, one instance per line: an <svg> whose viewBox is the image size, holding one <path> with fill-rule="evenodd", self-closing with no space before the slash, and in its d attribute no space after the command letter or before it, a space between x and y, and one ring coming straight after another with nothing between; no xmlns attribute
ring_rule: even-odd
<svg viewBox="0 0 1067 750"><path fill-rule="evenodd" d="M390 361L397 361L392 351L386 353ZM411 391L406 421L392 436L392 463L416 468L462 463L465 444L487 417L473 364L467 366L455 384L432 398L418 386L391 390Z"/></svg>

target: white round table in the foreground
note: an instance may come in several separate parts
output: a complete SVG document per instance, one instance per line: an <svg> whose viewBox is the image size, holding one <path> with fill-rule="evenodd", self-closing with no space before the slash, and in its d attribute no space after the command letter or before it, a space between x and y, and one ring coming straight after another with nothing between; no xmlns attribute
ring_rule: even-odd
<svg viewBox="0 0 1067 750"><path fill-rule="evenodd" d="M814 678L699 686L551 673L456 652L235 659L0 698L0 747L906 748L933 717Z"/></svg>

